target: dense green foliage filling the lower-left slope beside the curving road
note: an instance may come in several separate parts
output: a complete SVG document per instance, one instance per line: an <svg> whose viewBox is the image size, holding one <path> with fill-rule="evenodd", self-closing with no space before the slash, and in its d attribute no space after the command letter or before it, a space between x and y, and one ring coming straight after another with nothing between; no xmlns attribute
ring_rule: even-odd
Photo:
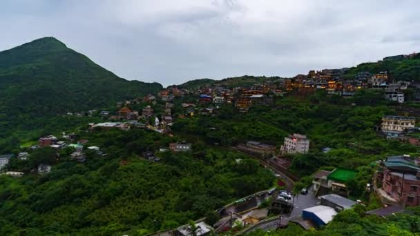
<svg viewBox="0 0 420 236"><path fill-rule="evenodd" d="M107 155L86 151L79 164L60 152L47 175L0 176L0 235L135 235L175 228L274 181L257 161L200 144L193 153L159 153L160 162L143 159L144 150L173 141L158 132L110 130L82 138ZM39 149L19 165L52 164L50 150Z"/></svg>

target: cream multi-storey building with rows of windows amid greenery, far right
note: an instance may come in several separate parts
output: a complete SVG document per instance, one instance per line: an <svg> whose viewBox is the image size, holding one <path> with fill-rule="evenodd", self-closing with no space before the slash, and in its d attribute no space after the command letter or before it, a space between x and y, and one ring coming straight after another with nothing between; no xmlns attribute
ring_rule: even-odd
<svg viewBox="0 0 420 236"><path fill-rule="evenodd" d="M381 130L389 138L398 137L406 129L414 128L416 118L386 115L382 118Z"/></svg>

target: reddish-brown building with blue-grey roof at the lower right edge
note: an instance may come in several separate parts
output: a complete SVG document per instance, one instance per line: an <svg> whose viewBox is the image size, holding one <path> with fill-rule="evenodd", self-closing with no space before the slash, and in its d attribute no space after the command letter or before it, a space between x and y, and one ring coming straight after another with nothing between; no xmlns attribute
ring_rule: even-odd
<svg viewBox="0 0 420 236"><path fill-rule="evenodd" d="M420 206L420 160L408 155L387 157L383 168L382 199L391 199L388 204ZM379 191L381 193L381 191Z"/></svg>

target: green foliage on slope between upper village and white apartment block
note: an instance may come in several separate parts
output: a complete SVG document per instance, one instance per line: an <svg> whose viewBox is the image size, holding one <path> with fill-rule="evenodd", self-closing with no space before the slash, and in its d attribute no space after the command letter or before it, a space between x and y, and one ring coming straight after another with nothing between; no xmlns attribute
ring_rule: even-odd
<svg viewBox="0 0 420 236"><path fill-rule="evenodd" d="M178 120L173 130L195 134L209 144L224 146L254 140L280 147L288 134L305 134L310 139L311 150L290 157L292 173L305 177L320 168L356 170L356 181L348 184L352 186L354 197L365 198L368 196L364 188L372 177L374 166L370 164L373 161L389 155L416 155L419 150L410 144L383 139L374 132L374 126L381 125L383 115L398 114L382 97L375 96L374 92L361 91L352 100L321 93L307 99L288 97L278 99L276 106L253 107L247 114L224 106L214 117ZM361 106L352 106L354 102ZM324 153L325 147L332 150Z"/></svg>

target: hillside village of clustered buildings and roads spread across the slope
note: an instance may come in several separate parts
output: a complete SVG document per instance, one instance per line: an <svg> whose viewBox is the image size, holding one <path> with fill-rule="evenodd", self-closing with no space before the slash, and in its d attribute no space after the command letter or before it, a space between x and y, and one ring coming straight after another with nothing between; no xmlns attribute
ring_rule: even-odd
<svg viewBox="0 0 420 236"><path fill-rule="evenodd" d="M383 61L410 60L417 55L385 57ZM153 147L137 153L143 160L159 164L162 153L193 152L199 148L191 141L195 137L191 139L186 135L188 132L184 132L184 126L178 126L182 122L197 117L219 117L227 108L232 108L235 115L241 116L247 116L258 107L287 110L289 108L281 103L284 99L303 101L317 94L332 100L348 100L349 107L366 105L358 104L361 99L355 99L366 96L362 102L368 105L386 104L396 108L397 113L385 114L381 120L376 120L371 132L381 139L399 141L414 148L420 146L420 128L417 127L420 110L416 106L404 106L420 101L420 82L408 77L394 77L387 71L362 71L348 78L347 70L350 69L311 70L307 75L289 79L267 78L252 86L171 86L158 94L118 102L108 109L68 112L64 116L97 117L100 122L86 124L77 132L39 137L32 145L21 147L19 152L4 153L0 155L0 170L2 175L16 178L48 175L62 159L83 164L89 158L105 158L107 147L96 146L95 141L85 137L95 139L96 133L112 130L146 130L168 137L167 141L156 141ZM211 132L218 128L209 127L208 130ZM245 234L256 228L286 228L290 224L309 230L329 224L342 210L370 204L369 197L359 199L356 197L360 195L354 194L354 181L358 176L356 168L330 166L318 169L306 178L292 170L292 162L299 155L328 155L334 152L334 148L329 146L314 146L314 137L302 130L276 140L246 139L229 145L219 141L221 139L204 139L209 146L227 148L258 160L260 165L273 172L277 186L213 209L216 210L217 220L195 222L198 233L191 233L191 225L186 225L156 235L207 235L229 230ZM360 149L360 144L348 145L352 149ZM237 161L240 163L241 159ZM26 163L30 163L29 168ZM387 218L401 213L405 207L420 206L420 159L417 156L408 153L383 156L372 161L369 168L372 175L367 177L368 181L361 183L361 192L374 196L379 203L375 205L377 208L365 214Z"/></svg>

